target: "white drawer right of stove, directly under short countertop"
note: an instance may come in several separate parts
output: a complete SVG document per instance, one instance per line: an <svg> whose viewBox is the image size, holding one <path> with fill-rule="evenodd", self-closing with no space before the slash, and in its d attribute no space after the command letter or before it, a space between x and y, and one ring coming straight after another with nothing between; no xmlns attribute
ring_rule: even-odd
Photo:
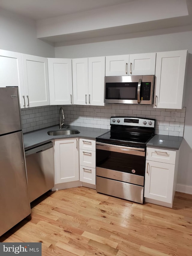
<svg viewBox="0 0 192 256"><path fill-rule="evenodd" d="M152 160L167 164L175 164L176 151L167 149L147 148L146 160Z"/></svg>

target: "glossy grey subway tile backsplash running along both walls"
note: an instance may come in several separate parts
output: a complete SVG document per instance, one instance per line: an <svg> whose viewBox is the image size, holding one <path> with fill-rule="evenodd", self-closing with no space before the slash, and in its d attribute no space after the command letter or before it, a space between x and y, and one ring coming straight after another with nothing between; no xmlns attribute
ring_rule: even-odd
<svg viewBox="0 0 192 256"><path fill-rule="evenodd" d="M43 106L22 109L23 132L34 131L58 124L61 106ZM64 105L65 124L91 128L110 129L111 116L130 116L156 119L155 133L183 136L185 108L159 109L145 105L106 104L106 106ZM93 114L93 110L96 114ZM176 118L171 112L176 111Z"/></svg>

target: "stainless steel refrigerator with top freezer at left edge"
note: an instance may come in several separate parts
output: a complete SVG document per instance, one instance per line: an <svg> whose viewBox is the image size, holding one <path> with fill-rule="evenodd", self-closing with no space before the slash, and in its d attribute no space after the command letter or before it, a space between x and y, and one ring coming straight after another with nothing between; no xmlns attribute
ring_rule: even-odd
<svg viewBox="0 0 192 256"><path fill-rule="evenodd" d="M18 88L0 88L0 236L30 213Z"/></svg>

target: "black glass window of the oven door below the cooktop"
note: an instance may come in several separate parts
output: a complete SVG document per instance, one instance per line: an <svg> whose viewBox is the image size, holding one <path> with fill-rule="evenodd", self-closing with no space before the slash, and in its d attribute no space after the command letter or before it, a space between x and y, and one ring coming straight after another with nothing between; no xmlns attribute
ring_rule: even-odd
<svg viewBox="0 0 192 256"><path fill-rule="evenodd" d="M96 167L144 176L145 156L96 149Z"/></svg>

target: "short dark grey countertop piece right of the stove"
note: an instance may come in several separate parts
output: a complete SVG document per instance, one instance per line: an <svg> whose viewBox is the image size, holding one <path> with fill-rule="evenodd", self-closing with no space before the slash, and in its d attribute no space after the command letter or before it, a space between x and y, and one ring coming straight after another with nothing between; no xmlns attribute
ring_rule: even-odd
<svg viewBox="0 0 192 256"><path fill-rule="evenodd" d="M182 140L183 137L156 134L151 140L149 140L147 147L179 150Z"/></svg>

